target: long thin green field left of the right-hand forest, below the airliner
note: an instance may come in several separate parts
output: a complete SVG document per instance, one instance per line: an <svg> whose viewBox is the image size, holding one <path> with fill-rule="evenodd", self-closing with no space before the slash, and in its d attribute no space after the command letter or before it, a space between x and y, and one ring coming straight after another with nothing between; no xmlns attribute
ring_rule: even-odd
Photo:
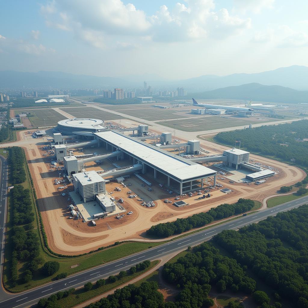
<svg viewBox="0 0 308 308"><path fill-rule="evenodd" d="M184 117L184 116L183 116ZM224 118L222 116L205 116L203 118L195 118L195 119L185 119L185 120L178 120L178 121L164 121L158 122L158 124L174 128L174 124L176 124L176 129L180 129L184 132L198 132L198 131L207 131L213 130L218 128L228 128L228 127L235 127L241 125L249 125L258 124L258 123L265 123L271 122L274 119L269 118L262 118L262 120L257 120L256 118L241 118L238 116L228 116Z"/></svg>

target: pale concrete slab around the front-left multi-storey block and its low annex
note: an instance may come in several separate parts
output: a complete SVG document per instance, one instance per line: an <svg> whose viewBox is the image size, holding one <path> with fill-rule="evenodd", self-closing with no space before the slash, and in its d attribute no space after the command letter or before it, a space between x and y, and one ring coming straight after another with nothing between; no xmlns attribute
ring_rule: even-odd
<svg viewBox="0 0 308 308"><path fill-rule="evenodd" d="M81 213L83 219L87 222L87 221L91 221L93 220L93 215L94 214L99 214L104 212L103 208L99 206L97 201L90 201L90 202L86 202L86 203L82 203L80 201L80 196L75 193L75 192L70 192L69 193L72 200L74 201L75 205L77 206L79 212ZM109 194L106 194L108 198L111 198L111 196ZM125 209L120 210L118 208L118 206L115 206L115 211L112 213L108 213L108 216L111 215L117 215L117 214L124 214L126 212Z"/></svg>

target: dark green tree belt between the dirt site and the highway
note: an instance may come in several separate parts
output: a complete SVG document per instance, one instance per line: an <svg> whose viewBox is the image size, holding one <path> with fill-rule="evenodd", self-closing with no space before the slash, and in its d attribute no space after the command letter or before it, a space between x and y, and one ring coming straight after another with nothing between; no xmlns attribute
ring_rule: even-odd
<svg viewBox="0 0 308 308"><path fill-rule="evenodd" d="M173 234L180 234L193 228L205 226L214 220L245 213L251 210L253 206L254 202L252 200L240 198L234 204L224 203L218 205L216 208L211 208L205 213L194 214L187 218L178 218L176 221L153 225L147 230L147 234L157 237L168 237Z"/></svg>

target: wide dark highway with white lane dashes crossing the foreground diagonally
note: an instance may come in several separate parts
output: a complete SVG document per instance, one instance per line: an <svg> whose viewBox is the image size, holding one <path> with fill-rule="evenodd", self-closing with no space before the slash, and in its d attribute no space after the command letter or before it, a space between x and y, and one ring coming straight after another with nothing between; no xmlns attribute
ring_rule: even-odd
<svg viewBox="0 0 308 308"><path fill-rule="evenodd" d="M99 278L105 278L111 274L118 273L121 270L127 270L132 265L135 265L144 260L157 260L163 255L168 255L176 251L186 249L188 246L197 245L209 240L213 235L226 229L238 229L244 225L249 225L253 222L265 219L268 216L276 215L279 212L296 208L300 205L308 203L308 196L299 198L294 201L287 202L276 207L265 209L255 214L242 216L236 220L218 225L216 227L200 231L198 233L188 235L178 240L170 241L164 245L157 246L146 251L133 254L129 257L122 258L108 264L97 266L91 270L86 270L79 274L72 275L63 280L49 283L43 287L34 290L29 290L18 295L7 294L8 299L0 302L1 308L27 307L38 302L39 298L50 296L58 291L67 290L69 288L76 288L83 286L85 282L94 282Z"/></svg>

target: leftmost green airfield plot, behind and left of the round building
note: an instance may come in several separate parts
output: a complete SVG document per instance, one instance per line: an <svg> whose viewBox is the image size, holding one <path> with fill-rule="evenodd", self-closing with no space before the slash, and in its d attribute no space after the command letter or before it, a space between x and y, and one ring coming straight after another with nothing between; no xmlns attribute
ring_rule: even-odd
<svg viewBox="0 0 308 308"><path fill-rule="evenodd" d="M27 115L31 124L34 127L44 127L44 120L46 122L46 126L56 126L60 120L66 119L64 115L61 115L59 112L51 109L51 108L41 108L41 109L19 109L14 110L15 114L22 112L30 112L30 115Z"/></svg>

